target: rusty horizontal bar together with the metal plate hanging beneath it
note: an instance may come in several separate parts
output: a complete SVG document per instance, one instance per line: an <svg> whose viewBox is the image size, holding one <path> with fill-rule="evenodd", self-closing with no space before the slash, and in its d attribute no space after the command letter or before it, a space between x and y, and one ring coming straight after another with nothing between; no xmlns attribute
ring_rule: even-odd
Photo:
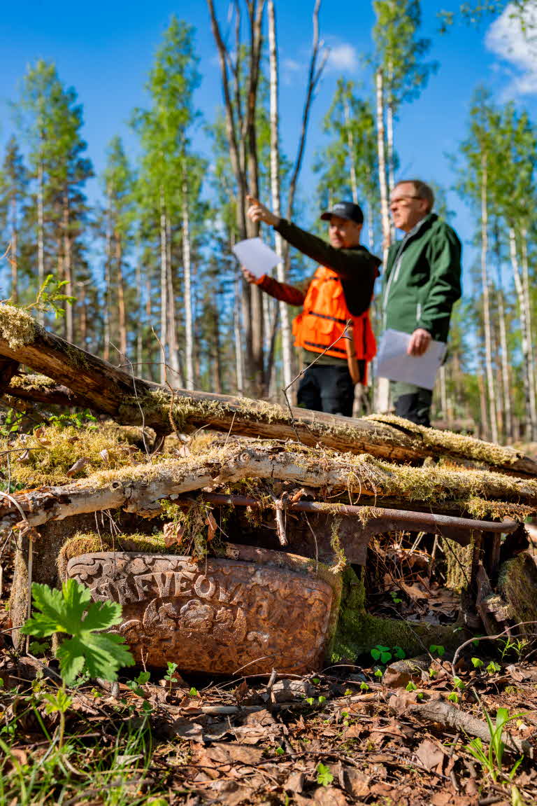
<svg viewBox="0 0 537 806"><path fill-rule="evenodd" d="M204 501L215 505L258 507L260 502L250 496L232 496L221 493L204 493ZM263 506L270 507L263 502ZM435 513L411 512L407 509L382 509L348 504L320 504L316 501L289 503L286 509L291 512L315 513L324 516L341 517L340 537L345 556L350 563L366 563L367 546L375 534L397 530L426 531L450 538L461 546L468 546L473 533L509 534L518 524L515 521L476 521L464 517L437 515ZM360 521L360 519L362 519Z"/></svg>

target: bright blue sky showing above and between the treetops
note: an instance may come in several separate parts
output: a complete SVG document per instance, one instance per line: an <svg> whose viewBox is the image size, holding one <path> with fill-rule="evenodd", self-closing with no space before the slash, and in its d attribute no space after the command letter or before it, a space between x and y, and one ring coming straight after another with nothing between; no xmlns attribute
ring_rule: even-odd
<svg viewBox="0 0 537 806"><path fill-rule="evenodd" d="M305 68L312 35L313 0L276 0L281 63L281 131L283 148L294 156L304 98ZM401 172L436 181L447 189L453 176L446 153L456 152L465 136L469 103L479 83L487 85L498 101L515 98L535 118L537 69L531 46L508 15L480 27L456 25L447 35L438 33L437 12L456 10L459 0L424 0L423 35L432 39L430 59L439 63L418 101L403 106L396 124L396 147ZM228 2L217 0L225 20ZM136 141L128 120L135 106L145 102L144 83L155 49L171 14L197 29L197 48L203 83L197 105L211 122L221 105L220 76L204 0L93 0L79 6L66 0L26 0L2 8L0 49L0 143L12 131L9 102L18 96L19 81L27 65L42 57L53 60L65 84L72 85L85 109L85 139L97 172L105 163L105 147L122 135L134 155ZM312 157L324 142L320 121L340 75L363 82L361 92L371 95L371 74L365 58L373 48L374 15L370 2L324 0L320 13L321 35L331 50L328 69L312 112L308 148L302 173L301 194L313 197L315 177ZM199 135L200 147L206 140ZM97 197L97 181L89 189ZM454 226L467 241L473 231L469 211L454 193L448 197L456 211ZM316 210L305 206L299 223L311 224Z"/></svg>

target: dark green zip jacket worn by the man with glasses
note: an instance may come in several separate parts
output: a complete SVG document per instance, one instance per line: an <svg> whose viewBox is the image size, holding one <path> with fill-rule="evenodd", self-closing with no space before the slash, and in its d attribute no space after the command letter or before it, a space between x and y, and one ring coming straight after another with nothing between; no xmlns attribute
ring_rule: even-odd
<svg viewBox="0 0 537 806"><path fill-rule="evenodd" d="M388 252L384 272L384 326L417 327L448 340L453 304L461 297L461 241L435 213L423 218Z"/></svg>

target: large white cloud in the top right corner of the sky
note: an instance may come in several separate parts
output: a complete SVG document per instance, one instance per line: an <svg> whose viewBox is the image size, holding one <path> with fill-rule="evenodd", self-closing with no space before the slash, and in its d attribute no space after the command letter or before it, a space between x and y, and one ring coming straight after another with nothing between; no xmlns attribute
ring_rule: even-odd
<svg viewBox="0 0 537 806"><path fill-rule="evenodd" d="M537 7L531 5L523 14L526 30L510 3L485 36L486 48L512 68L505 92L511 98L537 94Z"/></svg>

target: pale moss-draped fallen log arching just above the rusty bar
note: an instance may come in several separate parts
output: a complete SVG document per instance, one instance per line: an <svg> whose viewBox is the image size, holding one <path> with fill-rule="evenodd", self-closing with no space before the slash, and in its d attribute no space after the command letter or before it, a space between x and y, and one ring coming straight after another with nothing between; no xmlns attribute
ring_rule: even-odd
<svg viewBox="0 0 537 806"><path fill-rule="evenodd" d="M353 503L376 505L382 496L431 508L473 496L515 501L537 509L537 480L478 470L401 467L362 454L312 451L297 443L249 442L213 448L204 454L143 463L94 473L72 484L16 493L0 504L0 530L21 520L31 526L72 515L122 507L148 517L160 513L161 499L193 490L218 490L246 479L291 481L300 486L347 493ZM354 499L352 496L356 496Z"/></svg>

